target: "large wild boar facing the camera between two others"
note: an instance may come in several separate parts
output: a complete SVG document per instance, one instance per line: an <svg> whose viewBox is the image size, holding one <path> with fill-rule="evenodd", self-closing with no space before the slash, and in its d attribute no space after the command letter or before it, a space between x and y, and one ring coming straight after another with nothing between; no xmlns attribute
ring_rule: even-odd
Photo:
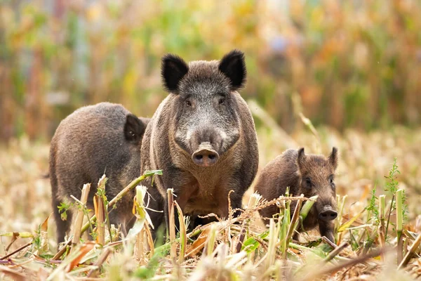
<svg viewBox="0 0 421 281"><path fill-rule="evenodd" d="M151 179L145 180L155 192L151 202L168 214L166 190L173 188L183 213L193 220L209 213L227 218L229 191L234 191L232 208L241 208L243 194L258 170L253 117L237 92L246 79L243 53L232 51L220 61L189 64L166 55L161 70L169 95L142 142L141 173L163 170L153 186ZM155 228L163 214L151 213ZM197 223L192 221L191 226Z"/></svg>

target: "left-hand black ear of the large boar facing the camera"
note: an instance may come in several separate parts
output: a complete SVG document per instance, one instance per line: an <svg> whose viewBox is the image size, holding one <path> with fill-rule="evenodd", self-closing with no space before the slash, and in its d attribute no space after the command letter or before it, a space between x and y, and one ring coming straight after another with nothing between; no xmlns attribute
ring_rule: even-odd
<svg viewBox="0 0 421 281"><path fill-rule="evenodd" d="M161 64L163 86L167 91L178 92L180 80L189 71L187 63L178 55L164 55Z"/></svg>

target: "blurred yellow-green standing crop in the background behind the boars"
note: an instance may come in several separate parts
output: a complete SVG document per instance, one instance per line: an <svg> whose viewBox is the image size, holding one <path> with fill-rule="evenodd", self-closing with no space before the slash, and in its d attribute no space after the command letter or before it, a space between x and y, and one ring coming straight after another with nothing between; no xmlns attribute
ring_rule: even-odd
<svg viewBox="0 0 421 281"><path fill-rule="evenodd" d="M150 117L167 94L163 54L213 60L233 48L246 53L243 96L287 131L297 96L315 124L420 124L418 0L3 0L0 140L48 139L105 100Z"/></svg>

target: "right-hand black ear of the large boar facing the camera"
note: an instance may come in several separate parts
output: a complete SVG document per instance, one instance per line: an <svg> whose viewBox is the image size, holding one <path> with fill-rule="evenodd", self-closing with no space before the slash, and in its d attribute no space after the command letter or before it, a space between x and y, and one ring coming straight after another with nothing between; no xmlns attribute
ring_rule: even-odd
<svg viewBox="0 0 421 281"><path fill-rule="evenodd" d="M219 70L231 80L232 91L241 89L246 84L247 70L243 52L234 50L227 53L220 61Z"/></svg>

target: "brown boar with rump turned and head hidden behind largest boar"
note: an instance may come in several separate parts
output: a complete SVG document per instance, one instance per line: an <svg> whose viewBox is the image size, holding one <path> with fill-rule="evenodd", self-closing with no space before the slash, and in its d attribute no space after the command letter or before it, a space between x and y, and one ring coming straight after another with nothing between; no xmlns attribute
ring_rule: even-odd
<svg viewBox="0 0 421 281"><path fill-rule="evenodd" d="M140 145L149 119L138 118L122 105L99 103L81 107L62 120L50 148L50 180L57 240L62 242L72 222L72 210L62 221L58 206L63 200L81 197L81 188L92 183L88 208L102 174L108 181L107 199L140 175ZM133 193L123 197L109 214L110 223L122 225L123 233L133 226Z"/></svg>

